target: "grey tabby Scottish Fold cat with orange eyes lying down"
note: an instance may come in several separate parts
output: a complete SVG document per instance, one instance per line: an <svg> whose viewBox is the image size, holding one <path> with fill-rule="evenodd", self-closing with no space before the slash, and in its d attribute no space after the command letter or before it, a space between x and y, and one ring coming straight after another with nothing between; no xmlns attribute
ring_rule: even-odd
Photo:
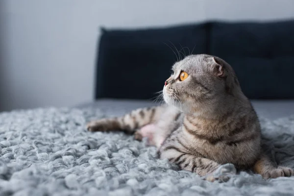
<svg viewBox="0 0 294 196"><path fill-rule="evenodd" d="M228 63L190 55L172 70L163 88L166 104L90 122L88 130L126 130L137 140L147 137L161 159L200 176L226 163L253 169L266 179L293 175L263 152L257 115Z"/></svg>

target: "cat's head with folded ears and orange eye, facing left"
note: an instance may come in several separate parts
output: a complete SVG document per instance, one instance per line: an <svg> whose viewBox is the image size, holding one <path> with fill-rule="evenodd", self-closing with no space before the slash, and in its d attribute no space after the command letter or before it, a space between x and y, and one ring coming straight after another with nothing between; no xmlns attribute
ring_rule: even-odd
<svg viewBox="0 0 294 196"><path fill-rule="evenodd" d="M172 66L163 98L184 112L215 109L229 96L242 94L232 67L219 57L190 55Z"/></svg>

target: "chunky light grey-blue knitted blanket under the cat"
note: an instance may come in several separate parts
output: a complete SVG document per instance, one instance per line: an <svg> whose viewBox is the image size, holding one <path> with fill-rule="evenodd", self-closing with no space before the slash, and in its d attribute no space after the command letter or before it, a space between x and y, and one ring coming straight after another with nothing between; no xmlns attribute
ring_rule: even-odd
<svg viewBox="0 0 294 196"><path fill-rule="evenodd" d="M34 109L0 113L0 196L294 195L294 177L263 180L231 164L208 182L156 157L155 147L123 133L90 133L105 111ZM294 168L294 117L261 119L275 160Z"/></svg>

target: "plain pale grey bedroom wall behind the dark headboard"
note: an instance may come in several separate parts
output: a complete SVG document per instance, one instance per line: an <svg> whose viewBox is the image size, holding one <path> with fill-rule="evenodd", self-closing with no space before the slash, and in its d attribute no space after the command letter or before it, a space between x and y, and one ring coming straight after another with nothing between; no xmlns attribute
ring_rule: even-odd
<svg viewBox="0 0 294 196"><path fill-rule="evenodd" d="M93 100L101 25L286 18L293 0L0 0L0 110Z"/></svg>

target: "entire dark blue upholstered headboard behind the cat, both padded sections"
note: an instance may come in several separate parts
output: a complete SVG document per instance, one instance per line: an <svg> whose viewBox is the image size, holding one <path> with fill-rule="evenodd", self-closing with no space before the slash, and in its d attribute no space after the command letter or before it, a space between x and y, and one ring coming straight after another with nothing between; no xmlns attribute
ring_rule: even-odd
<svg viewBox="0 0 294 196"><path fill-rule="evenodd" d="M248 98L294 98L294 21L206 22L147 29L102 29L96 99L151 99L177 58L219 56Z"/></svg>

